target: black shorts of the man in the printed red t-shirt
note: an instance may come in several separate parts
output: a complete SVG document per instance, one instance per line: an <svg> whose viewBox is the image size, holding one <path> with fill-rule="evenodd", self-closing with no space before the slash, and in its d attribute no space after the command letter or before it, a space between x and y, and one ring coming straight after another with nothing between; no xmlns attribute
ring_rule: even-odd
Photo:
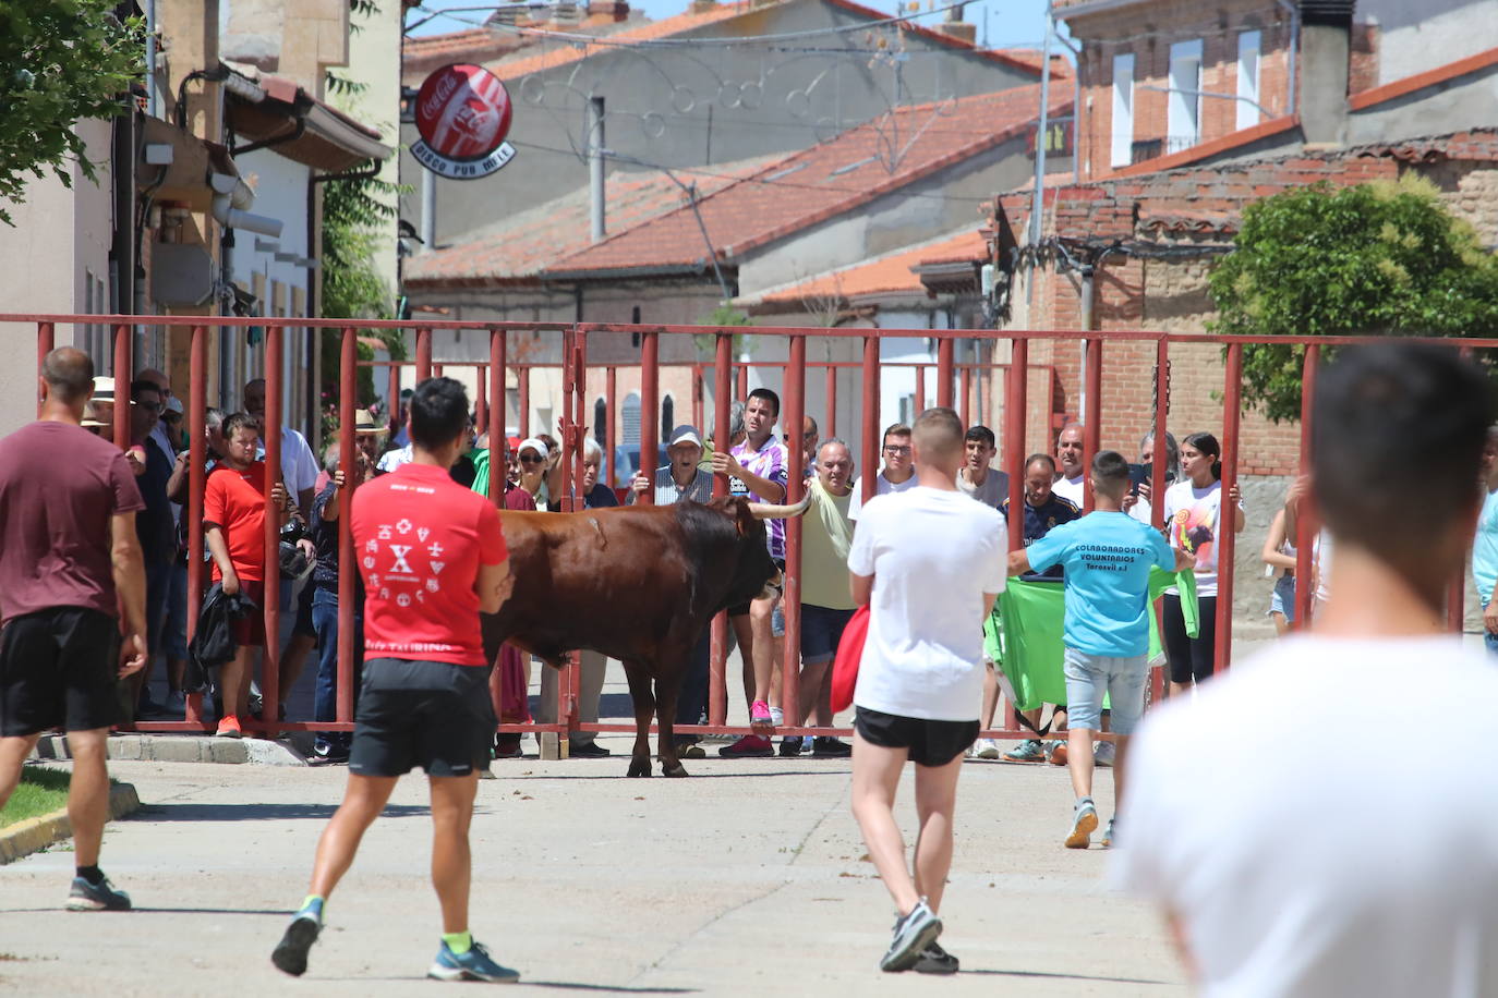
<svg viewBox="0 0 1498 998"><path fill-rule="evenodd" d="M372 658L364 663L349 772L467 777L488 766L494 739L488 669L449 661Z"/></svg>

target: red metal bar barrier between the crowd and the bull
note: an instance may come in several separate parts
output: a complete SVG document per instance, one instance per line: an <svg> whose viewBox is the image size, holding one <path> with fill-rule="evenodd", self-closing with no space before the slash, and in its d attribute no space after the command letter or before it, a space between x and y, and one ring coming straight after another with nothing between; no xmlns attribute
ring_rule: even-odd
<svg viewBox="0 0 1498 998"><path fill-rule="evenodd" d="M133 326L132 323L141 322L141 317L130 316L0 316L0 322L28 322L36 326L37 335L37 361L45 358L46 352L52 347L55 341L55 326L57 323L106 323L114 331L112 344L112 373L115 377L115 392L118 404L114 408L114 426L112 435L115 443L126 446L129 443L129 386L132 380L132 371L135 367L133 358ZM160 326L177 326L190 328L190 352L189 352L189 367L190 367L190 385L189 385L189 438L190 438L190 470L189 470L189 498L187 498L187 516L190 522L201 522L202 519L202 492L205 486L205 426L204 426L204 410L208 404L207 398L207 383L208 383L208 346L210 332L216 329L243 329L250 325L264 325L264 319L211 319L205 320L202 317L150 317L153 325ZM508 332L509 331L541 331L541 328L530 323L422 323L419 328L409 323L398 322L339 322L339 320L319 320L319 326L328 331L339 331L340 341L340 398L339 398L339 416L340 416L340 432L339 443L342 447L340 467L345 476L352 482L355 477L357 467L357 438L354 434L354 408L357 404L357 334L360 329L367 328L382 328L382 329L406 329L415 331L415 373L418 380L436 370L451 371L455 368L475 368L478 377L482 379L484 385L481 392L475 392L478 398L484 398L484 405L479 408L479 416L482 425L493 437L503 437L505 434L505 419L506 419L506 380L508 371L512 367L515 370L515 380L520 394L520 413L518 413L518 428L521 435L529 435L530 432L530 401L532 401L532 371L536 367L548 367L538 362L521 362L509 364L508 356ZM434 359L433 353L433 331L434 329L455 329L467 331L472 335L488 335L488 355L484 361L475 359L457 359L443 358ZM1152 470L1152 518L1156 527L1162 525L1164 515L1164 491L1165 491L1165 426L1167 414L1170 405L1168 397L1168 364L1170 364L1170 347L1176 343L1212 343L1215 346L1225 346L1225 368L1224 368L1224 417L1222 417L1222 489L1230 491L1239 480L1239 452L1242 449L1240 441L1240 371L1242 371L1242 346L1245 343L1254 343L1251 338L1237 337L1207 337L1207 335L1167 335L1167 334L1150 334L1150 332L1079 332L1079 331L1005 331L1002 338L993 337L992 332L983 331L929 331L929 329L911 329L911 331L867 331L867 329L824 329L824 328L765 328L765 329L743 329L737 328L733 332L722 329L701 329L692 326L665 326L665 328L637 328L637 326L587 326L587 325L569 325L569 326L551 326L545 328L545 332L559 332L562 337L562 370L563 370L563 398L560 405L553 411L560 413L559 432L563 443L565 459L562 465L563 488L562 488L562 504L571 507L578 503L575 497L574 483L581 482L581 458L583 458L583 432L584 426L590 425L593 417L590 408L590 397L587 392L587 341L592 332L635 332L640 335L641 343L641 411L640 411L640 443L641 443L641 464L646 465L646 471L650 471L650 455L656 452L656 444L661 432L661 413L659 413L659 397L661 397L661 337L673 335L703 335L704 332L716 337L716 355L712 364L712 394L713 394L713 410L716 419L713 420L716 426L718 440L715 446L724 446L722 434L727 431L728 425L728 410L730 402L734 397L734 385L739 386L739 397L742 398L745 389L749 383L749 368L750 367L768 367L771 370L779 370L782 373L783 386L783 419L782 428L791 429L792 440L798 438L797 431L800 428L801 417L806 413L806 373L807 368L822 367L825 376L825 405L827 410L822 413L822 434L824 437L834 435L837 431L836 419L836 404L837 404L837 373L839 370L858 368L861 376L861 447L860 447L860 471L863 477L864 498L870 498L875 489L875 473L879 468L879 447L882 440L879 432L882 425L893 422L891 414L881 413L879 386L881 386L881 362L879 362L879 340L890 337L921 337L936 340L936 364L935 364L935 401L938 404L951 404L953 395L960 391L960 405L966 416L972 417L972 408L975 401L975 391L987 392L987 389L974 385L978 373L987 371L1004 371L1004 419L1001 444L1004 449L1004 467L1008 468L1010 482L1010 503L1011 509L1020 509L1023 503L1023 461L1026 456L1026 438L1028 429L1031 428L1031 417L1028 408L1028 376L1032 370L1041 370L1043 365L1032 365L1028 361L1028 349L1031 340L1050 340L1050 341L1067 341L1080 340L1079 344L1086 358L1086 405L1082 417L1086 426L1086 450L1088 453L1095 453L1103 438L1104 419L1103 411L1103 343L1106 340L1115 341L1141 341L1153 343L1156 349L1155 358L1155 420L1153 420L1153 470ZM265 461L267 461L267 527L265 527L265 555L267 555L267 575L271 578L267 581L267 599L265 599L265 624L268 634L279 633L280 610L279 593L274 585L273 567L277 564L277 546L279 546L279 516L270 498L270 483L277 482L280 477L282 464L282 438L280 438L280 419L283 411L285 386L282 379L282 359L285 350L288 349L288 335L310 335L310 331L297 328L288 329L283 325L268 325L265 326L265 377L267 377L267 419L264 426L265 435ZM733 358L733 337L734 335L759 335L759 337L783 337L788 344L788 356L783 362L776 361L761 361L761 362L736 362ZM806 340L809 337L828 337L828 338L855 338L861 337L863 350L861 359L858 361L818 361L807 362L806 359ZM1002 343L1008 340L1011 346L1011 358L1008 364L953 364L954 341L957 338L984 338L990 343ZM1309 467L1311 456L1311 434L1309 434L1309 414L1312 411L1314 394L1315 394L1315 374L1317 364L1320 359L1321 346L1344 346L1356 340L1350 338L1303 338L1300 343L1305 346L1305 361L1303 361L1303 423L1302 423L1302 467ZM1282 343L1276 340L1276 343ZM1489 347L1494 344L1473 341L1467 346ZM300 350L300 344L294 346ZM300 353L297 355L300 356ZM395 414L398 405L400 394L400 362L380 362L377 367L388 367L388 394L391 414ZM551 364L550 367L556 367ZM893 364L888 367L905 367L914 368L915 373L915 391L918 407L924 404L926 399L926 367L930 364ZM704 408L704 365L695 365L698 374L694 377L694 417L701 420L701 410ZM614 431L614 414L617 411L616 388L617 388L617 370L616 365L607 365L607 388L605 388L605 407L608 426L605 431L605 440L610 446L607 449L607 461L610 465L610 482L613 480L613 431ZM954 380L962 379L960 386ZM984 382L986 383L986 382ZM989 395L981 397L983 401L978 402L980 408L987 408L993 402L989 401ZM1043 392L1040 401L1041 408L1047 410L1040 413L1043 419L1050 417L1050 405L1046 404L1049 398L1049 389ZM981 419L981 413L980 413ZM1041 432L1049 432L1052 425L1049 422L1035 426ZM550 426L539 428L542 431L553 429ZM598 429L598 428L593 428ZM706 429L706 428L704 428ZM493 440L496 452L500 452L502 441L499 438ZM800 449L792 446L794 461L797 464L797 471L800 470ZM502 461L494 461L490 474L490 498L496 503L503 501L503 476L505 468ZM716 476L715 479L715 495L727 494L727 480L724 476ZM792 474L788 488L788 501L797 501L801 495L801 476ZM653 498L652 491L647 489L643 497L644 501ZM352 566L354 551L352 551L352 536L349 533L351 522L351 500L352 488L346 489L339 495L339 512L340 512L340 564ZM1308 509L1308 515L1300 518L1297 525L1297 599L1296 599L1296 616L1297 625L1302 625L1309 619L1312 610L1312 587L1311 587L1311 563L1314 555L1314 537L1315 525L1312 522L1312 512ZM1228 521L1230 522L1230 521ZM1008 524L1010 543L1017 546L1022 543L1022 518L1011 516ZM1236 549L1234 531L1227 530L1218 540L1218 561L1219 561L1219 584L1218 584L1218 646L1216 655L1222 667L1231 664L1231 642L1233 642L1233 557ZM801 555L801 524L800 521L792 521L788 524L786 530L786 590L785 590L785 616L786 616L786 634L785 634L785 669L782 673L780 693L783 699L783 706L792 715L795 714L795 705L798 703L798 637L800 637L800 555ZM189 531L189 633L196 622L196 610L201 601L201 593L205 584L207 563L204 561L204 540L201 533ZM1449 619L1453 625L1461 624L1461 597L1462 585L1461 581L1453 581ZM279 646L274 639L268 642L265 652L265 667L262 672L262 694L265 702L265 717L258 724L250 724L252 730L265 732L274 735L279 730L289 729L328 729L328 730L349 730L352 726L352 676L354 676L354 606L355 591L354 591L354 576L352 572L345 572L339 579L339 619L340 619L340 636L339 636L339 702L337 702L337 721L333 723L313 723L294 720L288 723L280 723L276 717L276 705L279 700ZM730 733L743 733L749 729L734 727L727 724L727 681L724 675L724 660L727 649L727 622L722 615L713 621L712 630L712 648L713 648L713 667L710 678L710 699L709 699L709 720L707 727L688 726L683 730L716 730ZM574 664L568 670L566 681L559 684L559 703L557 703L557 721L554 724L530 724L530 726L505 726L503 730L551 730L565 733L568 730L632 730L632 724L580 724L577 718L577 699L578 699L578 669ZM141 724L139 727L145 730L204 730L201 720L201 705L198 699L193 697L189 702L187 720L177 723L150 723ZM1008 711L1007 711L1008 717ZM810 727L786 727L785 733L827 733L825 730L816 730ZM995 732L996 736L1019 736L1014 730L1013 723L1005 723L1005 727Z"/></svg>

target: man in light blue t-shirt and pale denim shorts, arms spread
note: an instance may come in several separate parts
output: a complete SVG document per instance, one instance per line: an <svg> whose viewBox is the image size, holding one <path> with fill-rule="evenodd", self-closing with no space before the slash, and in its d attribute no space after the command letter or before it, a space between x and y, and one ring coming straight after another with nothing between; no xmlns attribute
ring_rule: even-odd
<svg viewBox="0 0 1498 998"><path fill-rule="evenodd" d="M1144 712L1149 669L1149 573L1180 572L1195 558L1176 551L1159 531L1122 512L1128 462L1116 450L1092 458L1094 510L1062 524L1029 548L1010 552L1010 575L1067 570L1067 618L1062 631L1067 673L1067 766L1077 793L1067 848L1088 848L1098 827L1092 803L1092 739L1103 729L1103 694L1113 712L1116 759L1113 805L1124 796L1128 736ZM1109 818L1103 844L1113 844Z"/></svg>

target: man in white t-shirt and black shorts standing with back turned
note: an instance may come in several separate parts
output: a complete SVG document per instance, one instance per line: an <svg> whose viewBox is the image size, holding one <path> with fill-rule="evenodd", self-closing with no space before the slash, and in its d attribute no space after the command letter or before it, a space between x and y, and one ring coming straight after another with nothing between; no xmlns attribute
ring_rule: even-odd
<svg viewBox="0 0 1498 998"><path fill-rule="evenodd" d="M957 774L978 735L983 619L1004 590L1007 536L996 509L957 491L957 413L926 410L911 443L917 486L873 498L848 551L852 599L870 610L854 690L852 812L899 908L879 968L950 974L957 958L936 946L936 913ZM893 814L906 760L921 811L914 877Z"/></svg>

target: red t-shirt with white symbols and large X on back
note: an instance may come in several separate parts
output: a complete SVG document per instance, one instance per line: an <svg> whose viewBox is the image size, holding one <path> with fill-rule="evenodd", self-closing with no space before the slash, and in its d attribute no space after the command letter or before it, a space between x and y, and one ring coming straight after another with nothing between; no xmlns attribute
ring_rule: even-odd
<svg viewBox="0 0 1498 998"><path fill-rule="evenodd" d="M494 506L445 468L403 464L354 494L354 554L364 576L364 660L484 666L479 566L508 552Z"/></svg>

